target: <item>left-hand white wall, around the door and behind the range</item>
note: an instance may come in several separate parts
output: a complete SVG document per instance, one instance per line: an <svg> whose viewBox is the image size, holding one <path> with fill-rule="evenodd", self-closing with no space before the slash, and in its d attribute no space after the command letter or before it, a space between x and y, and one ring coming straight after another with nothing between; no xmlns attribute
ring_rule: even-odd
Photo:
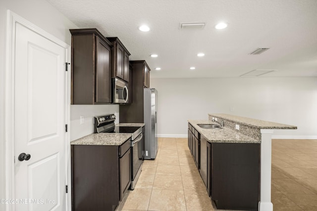
<svg viewBox="0 0 317 211"><path fill-rule="evenodd" d="M1 0L0 3L0 199L5 198L5 42L7 9L49 32L59 40L71 44L69 29L78 28L46 0ZM92 117L118 112L118 105L71 106L70 137L74 140L92 133ZM85 123L78 122L83 115ZM8 140L13 141L13 140ZM0 211L4 211L0 204Z"/></svg>

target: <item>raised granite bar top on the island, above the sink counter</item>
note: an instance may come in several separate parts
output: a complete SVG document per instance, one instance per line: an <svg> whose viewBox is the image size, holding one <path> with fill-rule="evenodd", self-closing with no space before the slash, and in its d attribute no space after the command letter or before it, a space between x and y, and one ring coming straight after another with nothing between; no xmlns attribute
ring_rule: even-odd
<svg viewBox="0 0 317 211"><path fill-rule="evenodd" d="M230 114L208 114L209 116L222 118L224 120L234 121L236 123L244 124L251 127L260 129L297 129L296 126L285 125L280 123L268 122L263 120L257 120L247 117L239 117Z"/></svg>

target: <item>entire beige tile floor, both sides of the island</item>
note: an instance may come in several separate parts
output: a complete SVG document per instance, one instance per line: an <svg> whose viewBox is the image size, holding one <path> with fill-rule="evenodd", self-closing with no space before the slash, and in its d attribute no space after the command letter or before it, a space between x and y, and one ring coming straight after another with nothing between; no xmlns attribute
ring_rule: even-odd
<svg viewBox="0 0 317 211"><path fill-rule="evenodd" d="M317 211L317 140L272 140L274 211ZM213 211L187 138L159 138L133 191L117 211ZM217 210L220 211L220 210Z"/></svg>

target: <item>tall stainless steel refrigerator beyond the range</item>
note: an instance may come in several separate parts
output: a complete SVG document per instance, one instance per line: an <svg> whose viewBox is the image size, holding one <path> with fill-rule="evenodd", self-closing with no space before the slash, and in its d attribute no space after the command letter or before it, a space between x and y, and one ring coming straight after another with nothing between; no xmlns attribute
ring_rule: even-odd
<svg viewBox="0 0 317 211"><path fill-rule="evenodd" d="M157 99L155 88L144 88L144 123L145 123L145 156L144 159L153 160L158 153L157 136Z"/></svg>

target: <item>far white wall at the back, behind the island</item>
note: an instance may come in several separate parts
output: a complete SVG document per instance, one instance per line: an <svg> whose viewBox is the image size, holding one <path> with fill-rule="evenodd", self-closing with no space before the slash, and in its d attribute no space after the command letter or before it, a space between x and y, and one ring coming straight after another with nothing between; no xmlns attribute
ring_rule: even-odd
<svg viewBox="0 0 317 211"><path fill-rule="evenodd" d="M186 137L188 119L227 113L295 125L273 138L317 139L317 77L151 79L158 89L158 134ZM233 111L230 111L233 108Z"/></svg>

